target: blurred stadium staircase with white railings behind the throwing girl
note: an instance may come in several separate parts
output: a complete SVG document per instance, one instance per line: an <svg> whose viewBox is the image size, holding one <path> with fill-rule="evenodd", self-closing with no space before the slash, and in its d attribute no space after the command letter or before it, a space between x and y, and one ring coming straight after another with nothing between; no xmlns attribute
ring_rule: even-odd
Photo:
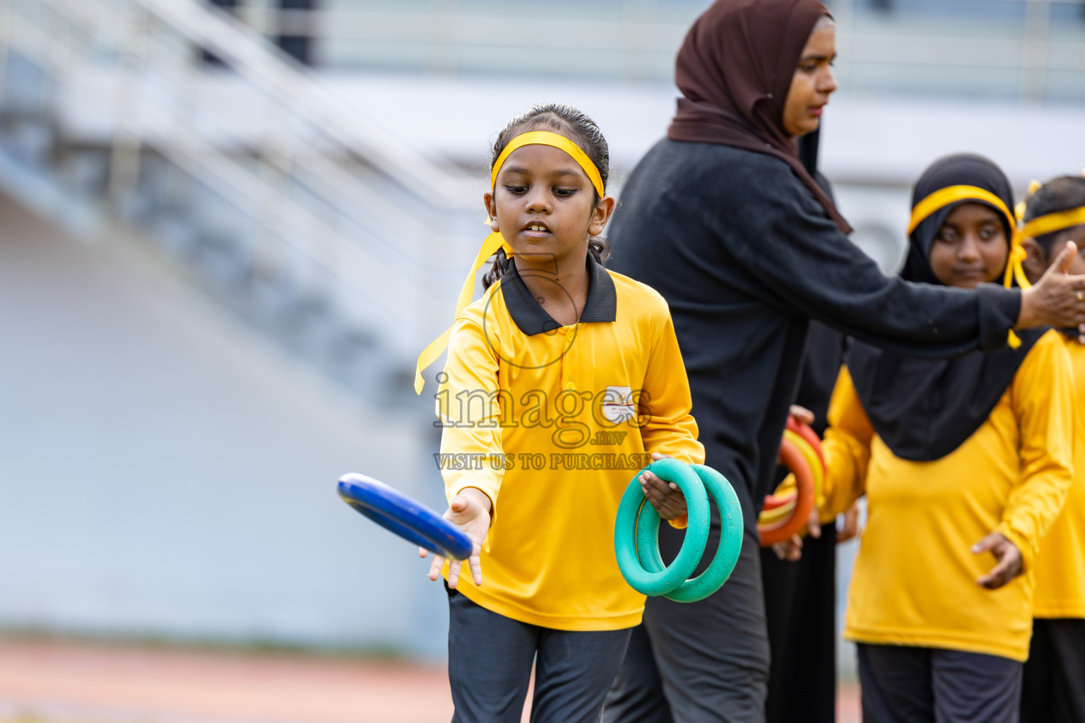
<svg viewBox="0 0 1085 723"><path fill-rule="evenodd" d="M371 402L413 395L470 177L195 0L0 0L0 185L131 238Z"/></svg>

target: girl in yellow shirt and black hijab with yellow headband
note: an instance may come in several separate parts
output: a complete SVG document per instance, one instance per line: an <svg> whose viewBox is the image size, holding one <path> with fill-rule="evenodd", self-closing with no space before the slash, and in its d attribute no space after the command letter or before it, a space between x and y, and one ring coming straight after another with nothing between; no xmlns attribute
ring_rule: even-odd
<svg viewBox="0 0 1085 723"><path fill-rule="evenodd" d="M939 160L912 201L902 276L1010 283L1021 251L997 166ZM1072 390L1054 331L949 361L853 341L829 409L822 512L867 495L844 630L867 723L1017 721L1031 571L1072 475Z"/></svg>

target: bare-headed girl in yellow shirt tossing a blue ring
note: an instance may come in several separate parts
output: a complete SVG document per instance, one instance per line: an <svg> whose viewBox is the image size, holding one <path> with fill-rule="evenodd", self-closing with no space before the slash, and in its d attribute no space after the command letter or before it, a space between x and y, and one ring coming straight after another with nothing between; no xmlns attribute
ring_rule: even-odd
<svg viewBox="0 0 1085 723"><path fill-rule="evenodd" d="M644 606L614 556L622 493L652 457L704 460L666 302L601 266L607 175L607 141L569 106L494 146L476 269L503 253L470 305L469 276L437 375L445 517L476 543L470 574L445 570L454 721L519 722L533 661L532 721L599 721ZM640 482L662 517L685 513L676 487Z"/></svg>

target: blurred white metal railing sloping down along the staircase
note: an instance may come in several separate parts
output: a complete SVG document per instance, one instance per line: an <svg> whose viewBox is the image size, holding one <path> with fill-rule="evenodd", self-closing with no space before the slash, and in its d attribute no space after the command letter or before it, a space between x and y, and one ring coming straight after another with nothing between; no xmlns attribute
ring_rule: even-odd
<svg viewBox="0 0 1085 723"><path fill-rule="evenodd" d="M463 177L230 16L195 0L0 0L0 43L46 70L53 113L112 119L114 196L153 149L246 215L257 253L303 259L400 354L447 314L457 229L477 224ZM201 67L196 48L230 70Z"/></svg>

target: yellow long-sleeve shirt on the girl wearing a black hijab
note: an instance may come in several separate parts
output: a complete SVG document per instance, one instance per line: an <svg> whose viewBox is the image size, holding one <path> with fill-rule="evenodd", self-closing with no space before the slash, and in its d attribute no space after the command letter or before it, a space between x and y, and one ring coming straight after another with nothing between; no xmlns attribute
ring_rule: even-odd
<svg viewBox="0 0 1085 723"><path fill-rule="evenodd" d="M941 460L894 455L846 369L828 418L824 512L846 509L864 491L869 511L844 636L1027 658L1031 570L1073 474L1073 376L1058 334L1041 337L987 419ZM991 591L975 580L994 556L970 547L993 530L1021 551L1025 573Z"/></svg>

